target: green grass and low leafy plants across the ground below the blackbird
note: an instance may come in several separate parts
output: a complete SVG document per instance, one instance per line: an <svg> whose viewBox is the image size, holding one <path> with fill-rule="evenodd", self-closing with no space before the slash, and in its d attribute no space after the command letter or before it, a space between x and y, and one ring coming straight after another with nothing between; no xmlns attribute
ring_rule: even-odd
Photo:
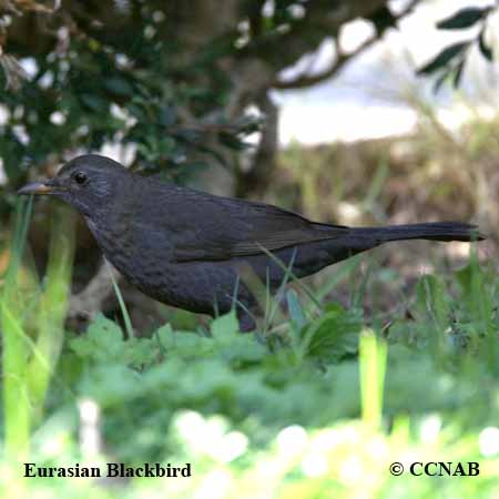
<svg viewBox="0 0 499 499"><path fill-rule="evenodd" d="M71 223L60 214L38 281L23 247L30 207L18 208L0 302L6 497L499 497L499 279L473 254L455 274L421 277L410 314L389 324L364 315L367 277L350 307L327 302L356 281L357 258L323 289L288 291L287 315L268 304L276 324L259 337L241 335L234 314L212 337L169 324L139 337L124 304L128 335L104 316L78 335L63 329ZM96 456L83 441L89 404ZM193 476L109 488L22 478L26 460L190 462ZM478 461L480 476L394 477L395 461Z"/></svg>

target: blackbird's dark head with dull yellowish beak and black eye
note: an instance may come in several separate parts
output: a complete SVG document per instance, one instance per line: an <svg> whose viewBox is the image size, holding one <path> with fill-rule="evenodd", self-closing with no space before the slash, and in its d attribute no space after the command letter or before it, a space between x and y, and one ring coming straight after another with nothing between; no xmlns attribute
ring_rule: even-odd
<svg viewBox="0 0 499 499"><path fill-rule="evenodd" d="M93 218L123 192L131 173L109 157L85 154L71 160L53 179L24 185L18 194L52 195Z"/></svg>

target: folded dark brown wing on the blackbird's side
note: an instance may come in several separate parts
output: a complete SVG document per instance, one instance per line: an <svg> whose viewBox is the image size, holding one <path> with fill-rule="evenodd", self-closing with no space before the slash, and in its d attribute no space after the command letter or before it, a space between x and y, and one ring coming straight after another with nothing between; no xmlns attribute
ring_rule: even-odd
<svg viewBox="0 0 499 499"><path fill-rule="evenodd" d="M171 204L172 198L169 201ZM177 262L256 255L265 249L336 238L349 231L340 225L314 223L268 204L196 191L182 192L182 206L183 210L174 208L175 223L169 224Z"/></svg>

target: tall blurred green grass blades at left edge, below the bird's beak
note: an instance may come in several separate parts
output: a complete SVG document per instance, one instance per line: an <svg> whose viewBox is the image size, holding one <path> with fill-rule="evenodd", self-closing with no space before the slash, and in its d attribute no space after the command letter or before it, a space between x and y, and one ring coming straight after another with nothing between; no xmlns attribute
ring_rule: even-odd
<svg viewBox="0 0 499 499"><path fill-rule="evenodd" d="M2 330L3 456L7 464L31 454L33 428L43 406L64 339L64 319L72 268L72 227L69 214L54 217L47 276L37 283L22 265L31 200L19 202L10 264L0 295Z"/></svg>

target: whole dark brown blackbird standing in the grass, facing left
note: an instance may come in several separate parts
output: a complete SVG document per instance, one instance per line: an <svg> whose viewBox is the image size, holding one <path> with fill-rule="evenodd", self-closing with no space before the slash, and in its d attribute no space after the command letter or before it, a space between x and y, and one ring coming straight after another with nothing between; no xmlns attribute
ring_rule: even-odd
<svg viewBox="0 0 499 499"><path fill-rule="evenodd" d="M235 305L242 330L255 327L247 266L275 291L288 266L304 277L390 241L483 238L475 225L459 222L387 227L310 222L268 204L140 176L93 154L19 194L50 194L74 206L105 257L146 295L211 315Z"/></svg>

